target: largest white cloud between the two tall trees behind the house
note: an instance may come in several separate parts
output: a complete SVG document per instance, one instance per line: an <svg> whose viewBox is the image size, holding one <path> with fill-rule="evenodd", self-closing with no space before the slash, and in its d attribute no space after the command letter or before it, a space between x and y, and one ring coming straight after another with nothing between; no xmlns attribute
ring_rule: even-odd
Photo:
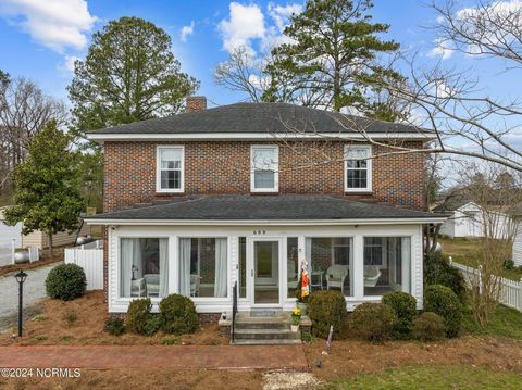
<svg viewBox="0 0 522 390"><path fill-rule="evenodd" d="M254 52L251 40L264 38L264 15L257 4L244 5L237 2L231 2L229 18L222 20L219 29L223 37L223 48L228 52L239 47L247 48L251 53Z"/></svg>

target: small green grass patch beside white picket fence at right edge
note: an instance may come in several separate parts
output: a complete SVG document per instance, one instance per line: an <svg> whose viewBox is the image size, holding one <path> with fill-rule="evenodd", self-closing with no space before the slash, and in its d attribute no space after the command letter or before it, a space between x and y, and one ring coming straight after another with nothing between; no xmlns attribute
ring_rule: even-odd
<svg viewBox="0 0 522 390"><path fill-rule="evenodd" d="M505 305L498 305L489 318L487 327L482 328L467 311L463 318L463 330L472 335L522 340L522 313Z"/></svg>

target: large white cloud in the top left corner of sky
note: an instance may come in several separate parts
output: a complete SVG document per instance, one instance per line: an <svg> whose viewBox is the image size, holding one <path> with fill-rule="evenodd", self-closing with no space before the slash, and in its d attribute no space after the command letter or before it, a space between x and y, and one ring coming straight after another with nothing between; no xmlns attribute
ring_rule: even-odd
<svg viewBox="0 0 522 390"><path fill-rule="evenodd" d="M97 21L86 0L2 0L0 15L14 17L33 39L58 52L84 49L85 34Z"/></svg>

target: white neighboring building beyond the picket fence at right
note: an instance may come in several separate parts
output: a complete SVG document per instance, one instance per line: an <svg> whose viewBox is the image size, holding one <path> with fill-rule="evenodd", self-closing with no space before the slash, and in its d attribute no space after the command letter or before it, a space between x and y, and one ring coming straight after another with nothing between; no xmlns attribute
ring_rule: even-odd
<svg viewBox="0 0 522 390"><path fill-rule="evenodd" d="M495 237L507 237L509 216L499 211L484 212L482 207L465 199L456 199L433 209L435 213L443 213L448 219L440 226L440 235L449 238L481 238L484 237L484 215L492 213L495 226L492 227ZM494 214L494 215L493 215ZM487 221L487 219L486 219ZM509 235L510 236L510 235Z"/></svg>

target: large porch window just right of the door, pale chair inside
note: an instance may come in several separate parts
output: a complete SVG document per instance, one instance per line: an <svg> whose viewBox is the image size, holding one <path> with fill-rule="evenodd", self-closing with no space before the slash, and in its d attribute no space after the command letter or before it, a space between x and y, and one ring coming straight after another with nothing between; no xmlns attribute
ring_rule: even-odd
<svg viewBox="0 0 522 390"><path fill-rule="evenodd" d="M314 237L304 242L311 290L339 290L353 297L352 238Z"/></svg>

